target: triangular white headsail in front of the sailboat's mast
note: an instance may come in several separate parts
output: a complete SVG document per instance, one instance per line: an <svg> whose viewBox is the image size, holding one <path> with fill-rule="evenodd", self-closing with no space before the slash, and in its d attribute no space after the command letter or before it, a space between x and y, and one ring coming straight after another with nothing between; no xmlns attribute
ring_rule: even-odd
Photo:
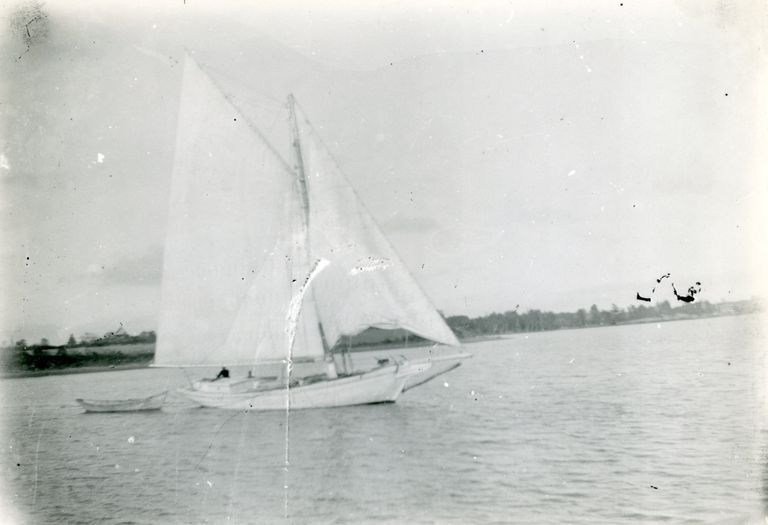
<svg viewBox="0 0 768 525"><path fill-rule="evenodd" d="M376 327L404 328L459 346L298 107L296 121L309 193L310 250L331 263L314 287L328 344Z"/></svg>

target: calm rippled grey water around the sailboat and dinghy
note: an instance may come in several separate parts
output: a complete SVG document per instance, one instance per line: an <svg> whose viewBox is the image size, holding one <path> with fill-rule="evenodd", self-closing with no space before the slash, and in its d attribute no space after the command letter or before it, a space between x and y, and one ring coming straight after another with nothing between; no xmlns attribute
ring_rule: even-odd
<svg viewBox="0 0 768 525"><path fill-rule="evenodd" d="M7 379L6 513L28 523L742 523L766 505L758 317L518 335L391 405L239 413L179 370ZM363 358L356 358L362 361ZM287 485L287 490L284 486Z"/></svg>

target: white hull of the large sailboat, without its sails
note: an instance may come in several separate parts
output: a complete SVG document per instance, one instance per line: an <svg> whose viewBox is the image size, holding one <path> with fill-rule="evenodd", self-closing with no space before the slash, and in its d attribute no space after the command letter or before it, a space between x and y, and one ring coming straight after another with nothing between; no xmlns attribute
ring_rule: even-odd
<svg viewBox="0 0 768 525"><path fill-rule="evenodd" d="M407 365L386 366L370 372L318 381L311 384L251 392L211 392L195 388L179 394L209 408L231 410L286 410L331 408L394 402L405 382L419 369Z"/></svg>

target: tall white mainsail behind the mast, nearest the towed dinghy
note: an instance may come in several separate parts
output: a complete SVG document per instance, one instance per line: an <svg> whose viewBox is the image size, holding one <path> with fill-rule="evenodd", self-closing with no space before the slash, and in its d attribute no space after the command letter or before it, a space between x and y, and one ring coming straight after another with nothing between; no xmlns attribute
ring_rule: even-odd
<svg viewBox="0 0 768 525"><path fill-rule="evenodd" d="M282 358L295 175L189 57L182 82L155 364Z"/></svg>

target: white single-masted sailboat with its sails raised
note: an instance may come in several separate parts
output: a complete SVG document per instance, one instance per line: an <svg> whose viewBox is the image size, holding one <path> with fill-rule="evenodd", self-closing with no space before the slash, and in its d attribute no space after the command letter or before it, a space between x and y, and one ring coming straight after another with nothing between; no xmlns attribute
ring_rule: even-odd
<svg viewBox="0 0 768 525"><path fill-rule="evenodd" d="M205 407L394 402L469 354L336 362L371 327L460 344L293 96L286 109L288 158L186 57L154 366L248 367L179 390Z"/></svg>

